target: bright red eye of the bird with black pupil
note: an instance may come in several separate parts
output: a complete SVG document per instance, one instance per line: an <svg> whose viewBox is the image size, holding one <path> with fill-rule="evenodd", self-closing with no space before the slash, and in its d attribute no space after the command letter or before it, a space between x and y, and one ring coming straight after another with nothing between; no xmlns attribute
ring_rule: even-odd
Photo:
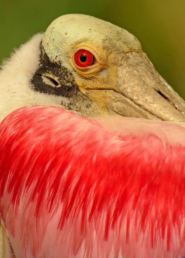
<svg viewBox="0 0 185 258"><path fill-rule="evenodd" d="M79 67L92 65L93 55L87 50L79 50L75 54L75 63Z"/></svg>

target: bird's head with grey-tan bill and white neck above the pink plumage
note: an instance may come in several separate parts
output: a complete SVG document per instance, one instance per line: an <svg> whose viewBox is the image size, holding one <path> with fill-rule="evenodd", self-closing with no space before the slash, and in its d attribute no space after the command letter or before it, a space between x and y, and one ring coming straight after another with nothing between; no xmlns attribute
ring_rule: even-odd
<svg viewBox="0 0 185 258"><path fill-rule="evenodd" d="M184 101L155 70L140 42L109 22L61 16L18 50L12 62L16 67L11 60L5 65L10 74L16 70L16 86L8 83L9 111L51 105L85 117L185 121ZM3 88L7 94L7 83Z"/></svg>

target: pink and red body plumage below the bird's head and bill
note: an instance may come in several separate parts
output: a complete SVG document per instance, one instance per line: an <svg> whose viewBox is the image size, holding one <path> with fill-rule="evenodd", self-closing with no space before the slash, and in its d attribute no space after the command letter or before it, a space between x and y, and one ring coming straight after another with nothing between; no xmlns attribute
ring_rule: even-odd
<svg viewBox="0 0 185 258"><path fill-rule="evenodd" d="M184 256L184 124L97 120L35 106L1 122L1 217L16 258Z"/></svg>

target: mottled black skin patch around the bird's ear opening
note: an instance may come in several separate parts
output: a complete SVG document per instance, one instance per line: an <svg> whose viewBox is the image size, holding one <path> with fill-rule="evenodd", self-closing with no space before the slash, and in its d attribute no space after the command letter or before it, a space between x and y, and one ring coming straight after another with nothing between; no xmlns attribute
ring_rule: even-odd
<svg viewBox="0 0 185 258"><path fill-rule="evenodd" d="M44 75L48 75L47 78L53 83L54 87L43 81L42 76ZM56 78L56 80L49 77L49 75ZM91 103L91 100L80 91L75 83L73 74L61 63L54 63L49 60L48 55L42 47L42 42L40 43L40 65L33 75L31 83L36 92L68 98L69 103L66 106L68 110L81 112L82 110L76 110L81 109L79 105L77 105L77 102L85 102L82 103L82 105L86 105L86 102ZM61 103L61 105L63 105L63 103Z"/></svg>

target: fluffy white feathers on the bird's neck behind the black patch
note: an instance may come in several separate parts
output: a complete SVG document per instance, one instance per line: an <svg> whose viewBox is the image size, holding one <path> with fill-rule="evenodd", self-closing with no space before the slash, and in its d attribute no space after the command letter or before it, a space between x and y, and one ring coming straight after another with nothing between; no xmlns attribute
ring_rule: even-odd
<svg viewBox="0 0 185 258"><path fill-rule="evenodd" d="M32 89L30 80L39 66L39 45L43 34L37 34L21 45L0 71L0 122L12 111L24 106L61 107L63 97L42 94Z"/></svg>

